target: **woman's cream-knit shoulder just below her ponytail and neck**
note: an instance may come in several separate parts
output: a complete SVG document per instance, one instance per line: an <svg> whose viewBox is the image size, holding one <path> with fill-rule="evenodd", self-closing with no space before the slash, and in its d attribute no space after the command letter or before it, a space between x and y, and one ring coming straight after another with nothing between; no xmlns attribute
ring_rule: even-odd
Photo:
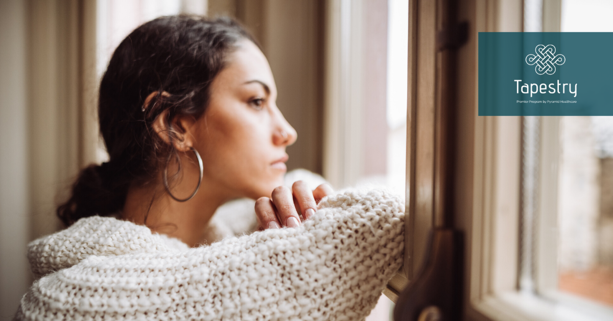
<svg viewBox="0 0 613 321"><path fill-rule="evenodd" d="M91 216L28 244L28 260L36 278L69 268L85 258L187 250L178 239L151 233L147 226L114 217Z"/></svg>

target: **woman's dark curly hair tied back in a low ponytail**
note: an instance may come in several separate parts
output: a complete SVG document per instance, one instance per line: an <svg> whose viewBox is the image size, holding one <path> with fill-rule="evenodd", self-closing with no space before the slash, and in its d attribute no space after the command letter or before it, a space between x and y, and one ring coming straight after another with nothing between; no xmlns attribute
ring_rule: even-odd
<svg viewBox="0 0 613 321"><path fill-rule="evenodd" d="M149 21L132 31L116 48L100 84L98 116L109 161L80 172L72 195L57 209L71 225L82 217L110 215L123 209L128 187L154 179L161 162L177 154L173 144L153 131L159 114L202 116L210 84L224 68L237 42L254 42L229 18L178 15ZM170 96L162 96L166 91ZM158 94L143 111L150 93ZM176 156L176 155L175 155Z"/></svg>

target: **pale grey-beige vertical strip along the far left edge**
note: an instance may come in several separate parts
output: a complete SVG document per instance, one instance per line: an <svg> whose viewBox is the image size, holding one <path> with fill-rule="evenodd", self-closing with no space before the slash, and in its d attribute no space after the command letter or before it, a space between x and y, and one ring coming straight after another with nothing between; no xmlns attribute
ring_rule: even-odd
<svg viewBox="0 0 613 321"><path fill-rule="evenodd" d="M26 4L0 1L0 320L29 285Z"/></svg>

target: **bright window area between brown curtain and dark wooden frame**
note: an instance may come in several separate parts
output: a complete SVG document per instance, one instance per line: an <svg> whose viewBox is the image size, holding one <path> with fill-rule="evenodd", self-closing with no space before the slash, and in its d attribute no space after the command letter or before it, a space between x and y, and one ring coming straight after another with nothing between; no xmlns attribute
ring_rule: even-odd
<svg viewBox="0 0 613 321"><path fill-rule="evenodd" d="M405 195L408 1L327 3L324 176ZM390 320L381 296L368 321Z"/></svg>

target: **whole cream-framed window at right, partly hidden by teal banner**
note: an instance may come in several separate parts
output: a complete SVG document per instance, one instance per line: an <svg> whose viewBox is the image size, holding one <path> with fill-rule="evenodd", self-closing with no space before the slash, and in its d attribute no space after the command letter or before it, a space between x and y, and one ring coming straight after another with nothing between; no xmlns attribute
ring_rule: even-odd
<svg viewBox="0 0 613 321"><path fill-rule="evenodd" d="M611 31L603 1L501 1L479 31ZM611 117L478 117L469 318L611 320Z"/></svg>

